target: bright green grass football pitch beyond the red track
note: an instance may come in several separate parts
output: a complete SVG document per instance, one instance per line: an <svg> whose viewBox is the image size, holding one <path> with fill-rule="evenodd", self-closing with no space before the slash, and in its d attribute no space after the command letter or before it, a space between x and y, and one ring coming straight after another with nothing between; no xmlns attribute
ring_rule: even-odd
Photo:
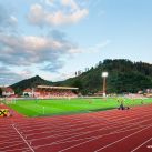
<svg viewBox="0 0 152 152"><path fill-rule="evenodd" d="M143 102L143 103L142 103ZM152 103L152 99L125 99L125 107ZM116 109L116 98L108 99L49 99L16 100L8 104L17 112L27 116L63 115Z"/></svg>

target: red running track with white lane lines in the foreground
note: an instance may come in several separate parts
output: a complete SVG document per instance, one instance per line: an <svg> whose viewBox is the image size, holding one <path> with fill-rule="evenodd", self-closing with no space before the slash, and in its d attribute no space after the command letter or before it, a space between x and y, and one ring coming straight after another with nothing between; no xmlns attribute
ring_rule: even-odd
<svg viewBox="0 0 152 152"><path fill-rule="evenodd" d="M0 152L152 152L152 104L52 118L14 112L0 119Z"/></svg>

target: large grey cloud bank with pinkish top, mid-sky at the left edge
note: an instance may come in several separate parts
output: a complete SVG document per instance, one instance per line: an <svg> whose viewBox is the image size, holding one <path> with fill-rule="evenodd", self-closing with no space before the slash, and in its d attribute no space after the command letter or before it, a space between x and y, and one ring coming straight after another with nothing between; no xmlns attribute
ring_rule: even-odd
<svg viewBox="0 0 152 152"><path fill-rule="evenodd" d="M6 65L26 67L48 63L43 69L53 70L63 65L63 62L62 64L58 62L75 53L70 50L77 45L64 39L62 32L60 36L60 32L53 31L53 37L16 37L0 33L0 62Z"/></svg>

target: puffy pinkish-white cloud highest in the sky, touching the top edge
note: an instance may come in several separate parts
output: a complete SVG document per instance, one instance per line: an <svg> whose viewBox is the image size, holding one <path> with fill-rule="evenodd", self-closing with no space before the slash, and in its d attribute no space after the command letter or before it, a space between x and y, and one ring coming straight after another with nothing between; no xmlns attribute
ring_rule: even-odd
<svg viewBox="0 0 152 152"><path fill-rule="evenodd" d="M80 20L84 19L89 13L87 9L81 9L74 0L61 0L60 4L61 6L59 8L62 9L55 9L53 11L50 11L47 10L42 4L34 3L33 6L31 6L30 12L28 14L29 22L40 27L45 24L70 24L79 22Z"/></svg>

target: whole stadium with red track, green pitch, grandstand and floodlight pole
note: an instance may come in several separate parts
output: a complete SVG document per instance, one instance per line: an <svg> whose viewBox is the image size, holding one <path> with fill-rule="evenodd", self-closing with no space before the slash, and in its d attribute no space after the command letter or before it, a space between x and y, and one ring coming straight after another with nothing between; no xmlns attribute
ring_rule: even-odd
<svg viewBox="0 0 152 152"><path fill-rule="evenodd" d="M151 149L152 99L133 93L110 97L105 82L103 78L101 97L79 95L79 88L71 87L37 85L23 90L22 97L17 97L12 89L3 89L0 151L144 152ZM119 110L122 102L123 109Z"/></svg>

